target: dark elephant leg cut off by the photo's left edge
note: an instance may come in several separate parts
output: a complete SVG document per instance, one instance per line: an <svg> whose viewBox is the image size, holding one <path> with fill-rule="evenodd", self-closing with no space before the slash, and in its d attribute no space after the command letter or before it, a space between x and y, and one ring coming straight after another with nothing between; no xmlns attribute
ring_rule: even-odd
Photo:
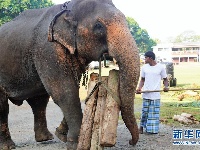
<svg viewBox="0 0 200 150"><path fill-rule="evenodd" d="M8 113L8 97L0 89L0 149L5 150L15 148L8 128Z"/></svg>

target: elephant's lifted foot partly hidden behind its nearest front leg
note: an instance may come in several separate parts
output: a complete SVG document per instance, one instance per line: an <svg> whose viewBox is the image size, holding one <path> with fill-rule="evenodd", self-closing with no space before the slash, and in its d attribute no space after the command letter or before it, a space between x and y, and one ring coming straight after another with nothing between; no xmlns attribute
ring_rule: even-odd
<svg viewBox="0 0 200 150"><path fill-rule="evenodd" d="M67 133L68 133L68 125L67 122L65 120L65 118L63 118L62 122L60 123L60 126L56 128L56 132L55 135L63 142L67 142Z"/></svg>

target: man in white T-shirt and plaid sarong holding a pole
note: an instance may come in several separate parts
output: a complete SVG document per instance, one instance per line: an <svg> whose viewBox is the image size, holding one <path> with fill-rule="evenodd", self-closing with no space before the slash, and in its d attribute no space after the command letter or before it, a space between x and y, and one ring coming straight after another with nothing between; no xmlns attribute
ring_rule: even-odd
<svg viewBox="0 0 200 150"><path fill-rule="evenodd" d="M141 68L141 80L137 88L137 94L143 91L160 90L163 79L164 91L167 92L168 80L163 65L156 63L155 54L152 51L145 53L145 64ZM160 92L147 92L142 94L143 108L140 122L140 133L146 128L147 133L159 132Z"/></svg>

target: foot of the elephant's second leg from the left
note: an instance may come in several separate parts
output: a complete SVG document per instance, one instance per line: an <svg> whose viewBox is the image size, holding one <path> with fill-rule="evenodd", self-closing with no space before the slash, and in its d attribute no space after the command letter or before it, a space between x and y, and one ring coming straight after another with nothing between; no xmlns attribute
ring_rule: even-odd
<svg viewBox="0 0 200 150"><path fill-rule="evenodd" d="M42 142L42 141L48 141L48 140L52 140L53 139L53 135L48 131L37 131L37 133L35 134L35 140L37 142Z"/></svg>

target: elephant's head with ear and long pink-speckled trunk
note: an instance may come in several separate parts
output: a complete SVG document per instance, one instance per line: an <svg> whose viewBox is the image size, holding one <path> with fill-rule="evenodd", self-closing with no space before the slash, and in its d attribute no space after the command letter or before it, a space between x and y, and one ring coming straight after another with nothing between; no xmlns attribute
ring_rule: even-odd
<svg viewBox="0 0 200 150"><path fill-rule="evenodd" d="M86 64L99 60L104 53L117 60L122 118L132 135L130 144L136 144L139 132L133 102L140 61L123 13L112 0L72 0L51 22L48 40L67 48Z"/></svg>

